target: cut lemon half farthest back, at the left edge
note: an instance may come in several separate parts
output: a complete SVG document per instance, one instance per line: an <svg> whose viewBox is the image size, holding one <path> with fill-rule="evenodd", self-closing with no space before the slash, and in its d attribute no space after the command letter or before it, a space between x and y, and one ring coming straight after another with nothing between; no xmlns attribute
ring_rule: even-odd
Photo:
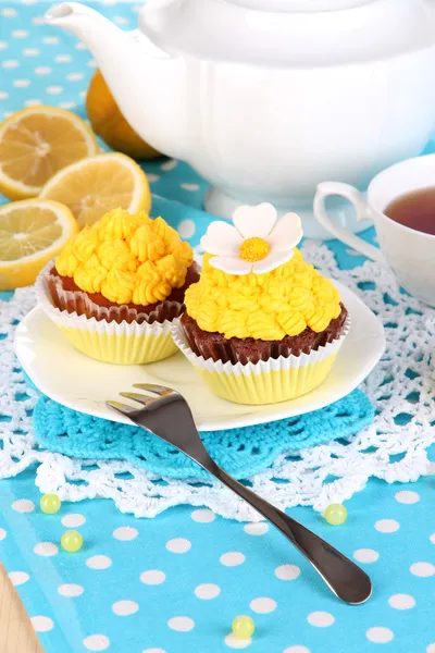
<svg viewBox="0 0 435 653"><path fill-rule="evenodd" d="M59 170L99 151L77 115L53 107L30 107L0 124L0 192L9 199L39 195Z"/></svg>

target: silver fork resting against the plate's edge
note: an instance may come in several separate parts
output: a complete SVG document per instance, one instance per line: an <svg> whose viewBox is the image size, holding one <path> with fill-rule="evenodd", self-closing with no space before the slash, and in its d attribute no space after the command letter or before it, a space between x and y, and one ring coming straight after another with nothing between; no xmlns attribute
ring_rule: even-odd
<svg viewBox="0 0 435 653"><path fill-rule="evenodd" d="M362 569L319 535L233 479L214 463L202 444L186 399L178 392L150 383L136 383L134 387L145 390L152 396L136 392L120 394L141 404L144 408L133 408L121 402L107 404L135 424L151 431L186 454L269 519L304 555L339 599L357 605L370 597L372 583Z"/></svg>

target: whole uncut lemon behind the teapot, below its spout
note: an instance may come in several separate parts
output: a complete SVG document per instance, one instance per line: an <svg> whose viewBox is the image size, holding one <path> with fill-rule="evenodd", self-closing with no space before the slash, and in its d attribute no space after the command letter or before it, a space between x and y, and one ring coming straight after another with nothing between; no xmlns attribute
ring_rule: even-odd
<svg viewBox="0 0 435 653"><path fill-rule="evenodd" d="M145 143L121 113L104 77L96 71L86 96L86 111L96 134L117 152L134 159L154 159L160 152Z"/></svg>

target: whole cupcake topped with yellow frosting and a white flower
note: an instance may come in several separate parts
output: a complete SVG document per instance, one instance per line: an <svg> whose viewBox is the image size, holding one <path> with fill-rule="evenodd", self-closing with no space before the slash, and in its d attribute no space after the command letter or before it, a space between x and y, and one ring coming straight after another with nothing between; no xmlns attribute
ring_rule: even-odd
<svg viewBox="0 0 435 653"><path fill-rule="evenodd" d="M300 218L268 204L240 207L234 226L201 239L200 280L186 291L174 340L219 396L273 404L307 394L328 374L350 317L333 283L296 245Z"/></svg>

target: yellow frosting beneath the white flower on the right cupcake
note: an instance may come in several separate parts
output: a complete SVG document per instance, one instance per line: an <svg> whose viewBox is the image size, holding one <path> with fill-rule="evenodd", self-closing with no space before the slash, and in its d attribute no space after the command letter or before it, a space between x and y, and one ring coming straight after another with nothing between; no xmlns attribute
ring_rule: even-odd
<svg viewBox="0 0 435 653"><path fill-rule="evenodd" d="M287 263L265 274L227 274L210 258L204 255L201 278L185 296L187 315L203 331L274 341L307 326L320 333L341 311L338 291L296 248Z"/></svg>

